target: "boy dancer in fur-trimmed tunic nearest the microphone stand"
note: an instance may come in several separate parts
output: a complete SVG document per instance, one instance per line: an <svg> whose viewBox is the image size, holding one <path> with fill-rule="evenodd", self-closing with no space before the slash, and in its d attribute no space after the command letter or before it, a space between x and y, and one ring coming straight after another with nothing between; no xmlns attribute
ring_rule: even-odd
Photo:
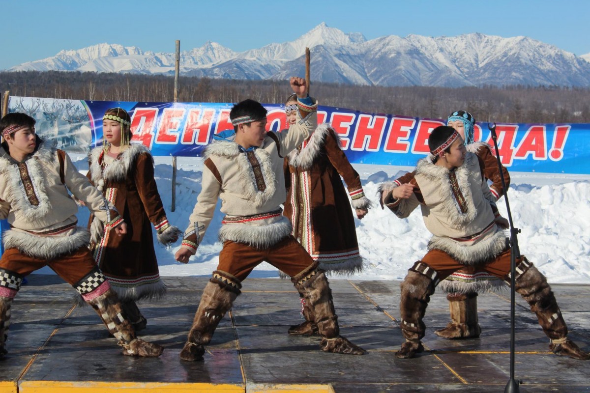
<svg viewBox="0 0 590 393"><path fill-rule="evenodd" d="M448 126L432 131L428 147L431 154L418 161L414 179L380 187L383 205L400 218L420 206L433 235L427 254L414 263L401 284L400 325L406 342L396 352L398 358L412 358L424 350L422 319L440 280L472 266L476 272L510 282L510 246L503 231L508 222L497 212L480 159L466 151L463 138ZM516 272L514 289L536 313L551 351L589 359L568 339L568 328L545 276L525 256L517 257Z"/></svg>

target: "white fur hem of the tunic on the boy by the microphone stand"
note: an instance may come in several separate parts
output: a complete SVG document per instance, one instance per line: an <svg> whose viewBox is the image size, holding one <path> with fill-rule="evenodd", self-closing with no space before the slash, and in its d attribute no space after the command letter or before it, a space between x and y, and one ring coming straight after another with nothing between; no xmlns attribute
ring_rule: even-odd
<svg viewBox="0 0 590 393"><path fill-rule="evenodd" d="M476 242L457 242L450 237L432 236L428 250L441 250L463 265L474 266L489 262L500 255L508 246L509 239L499 227L491 236Z"/></svg>

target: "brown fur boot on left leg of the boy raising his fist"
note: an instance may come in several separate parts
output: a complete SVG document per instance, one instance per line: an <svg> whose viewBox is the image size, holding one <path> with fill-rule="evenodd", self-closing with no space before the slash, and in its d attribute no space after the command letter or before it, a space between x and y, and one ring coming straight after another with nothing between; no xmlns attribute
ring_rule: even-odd
<svg viewBox="0 0 590 393"><path fill-rule="evenodd" d="M240 281L229 273L216 270L209 280L201 303L195 313L188 340L182 348L181 359L189 362L202 361L205 345L211 342L215 328L230 311L234 300L240 295L242 288Z"/></svg>

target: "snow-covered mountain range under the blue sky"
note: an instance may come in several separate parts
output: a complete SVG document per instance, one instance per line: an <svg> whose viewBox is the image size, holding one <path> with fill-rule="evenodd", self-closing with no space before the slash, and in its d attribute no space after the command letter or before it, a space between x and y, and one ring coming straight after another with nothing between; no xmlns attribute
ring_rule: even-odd
<svg viewBox="0 0 590 393"><path fill-rule="evenodd" d="M291 42L235 52L217 42L181 52L181 74L243 80L284 79L304 71L309 47L313 81L360 85L562 85L590 86L590 54L578 57L528 37L503 38L479 33L458 37L389 35L366 40L325 23ZM9 69L174 72L173 53L98 44L60 51L54 57Z"/></svg>

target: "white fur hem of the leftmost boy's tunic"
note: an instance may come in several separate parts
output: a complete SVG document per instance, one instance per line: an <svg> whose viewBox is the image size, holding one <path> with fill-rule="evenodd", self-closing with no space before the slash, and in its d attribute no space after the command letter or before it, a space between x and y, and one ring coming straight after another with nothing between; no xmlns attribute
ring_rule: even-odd
<svg viewBox="0 0 590 393"><path fill-rule="evenodd" d="M90 243L90 234L83 227L77 227L76 232L68 236L37 236L14 229L7 230L2 236L6 249L14 247L25 255L47 260Z"/></svg>

